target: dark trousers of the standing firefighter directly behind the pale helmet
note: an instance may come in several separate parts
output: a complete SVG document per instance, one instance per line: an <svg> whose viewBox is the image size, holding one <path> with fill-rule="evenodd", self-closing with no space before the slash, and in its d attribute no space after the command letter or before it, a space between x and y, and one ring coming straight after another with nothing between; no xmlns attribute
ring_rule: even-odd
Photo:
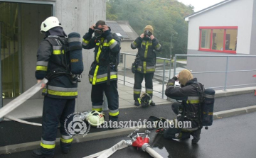
<svg viewBox="0 0 256 158"><path fill-rule="evenodd" d="M109 118L112 121L117 121L119 115L117 81L110 81L110 85L107 85L107 83L92 85L92 111L102 111L103 92L105 92L107 97Z"/></svg>

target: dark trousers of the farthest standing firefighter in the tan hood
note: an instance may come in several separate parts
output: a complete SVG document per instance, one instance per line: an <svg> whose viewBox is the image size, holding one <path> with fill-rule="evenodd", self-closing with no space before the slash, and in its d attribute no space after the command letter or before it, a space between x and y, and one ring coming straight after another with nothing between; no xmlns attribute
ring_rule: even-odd
<svg viewBox="0 0 256 158"><path fill-rule="evenodd" d="M145 78L146 93L153 98L153 77L154 73L142 74L135 72L134 74L134 100L140 97L142 91L142 81Z"/></svg>

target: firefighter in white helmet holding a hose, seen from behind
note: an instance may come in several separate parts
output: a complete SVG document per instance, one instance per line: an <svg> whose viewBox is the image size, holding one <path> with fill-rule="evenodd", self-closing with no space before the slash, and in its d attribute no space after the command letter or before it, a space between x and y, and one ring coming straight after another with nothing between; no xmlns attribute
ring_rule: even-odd
<svg viewBox="0 0 256 158"><path fill-rule="evenodd" d="M43 123L41 149L33 150L33 157L53 157L58 123L60 123L60 148L68 153L73 137L64 129L65 119L75 111L75 98L78 96L78 83L73 81L69 71L68 53L65 51L68 40L58 21L49 17L41 24L45 35L37 52L36 79L48 79L43 88ZM82 49L82 48L81 48Z"/></svg>

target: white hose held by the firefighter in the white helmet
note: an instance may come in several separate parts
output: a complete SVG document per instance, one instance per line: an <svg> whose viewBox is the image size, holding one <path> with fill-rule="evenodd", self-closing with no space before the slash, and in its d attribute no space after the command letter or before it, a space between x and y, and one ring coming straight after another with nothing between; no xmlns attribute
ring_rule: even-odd
<svg viewBox="0 0 256 158"><path fill-rule="evenodd" d="M15 108L18 108L18 106L20 106L22 103L28 100L28 98L31 98L31 96L33 96L41 90L41 84L46 84L47 82L48 79L43 79L41 82L32 86L30 89L28 89L23 94L12 100L10 103L7 103L6 106L0 108L0 118L4 117L4 115L7 115L11 111L13 111Z"/></svg>

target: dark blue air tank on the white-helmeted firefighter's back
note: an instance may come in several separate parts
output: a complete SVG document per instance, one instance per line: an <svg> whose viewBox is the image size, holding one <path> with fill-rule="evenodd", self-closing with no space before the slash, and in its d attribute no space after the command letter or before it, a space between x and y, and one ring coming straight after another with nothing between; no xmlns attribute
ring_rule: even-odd
<svg viewBox="0 0 256 158"><path fill-rule="evenodd" d="M70 71L72 74L82 74L82 44L79 33L68 34L68 50L70 52Z"/></svg>

